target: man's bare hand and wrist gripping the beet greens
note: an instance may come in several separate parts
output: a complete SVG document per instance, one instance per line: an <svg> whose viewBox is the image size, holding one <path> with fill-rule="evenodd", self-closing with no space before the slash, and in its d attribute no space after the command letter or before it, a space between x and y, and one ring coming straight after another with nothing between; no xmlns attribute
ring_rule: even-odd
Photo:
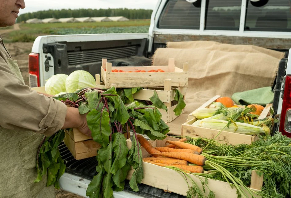
<svg viewBox="0 0 291 198"><path fill-rule="evenodd" d="M78 108L67 107L67 115L62 129L78 128L79 131L91 137L91 131L88 128L86 114L81 115Z"/></svg>

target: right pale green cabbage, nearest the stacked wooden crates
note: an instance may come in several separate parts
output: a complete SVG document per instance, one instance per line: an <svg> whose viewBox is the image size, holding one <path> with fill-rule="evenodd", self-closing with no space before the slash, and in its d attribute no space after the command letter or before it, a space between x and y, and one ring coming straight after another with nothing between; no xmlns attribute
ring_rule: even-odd
<svg viewBox="0 0 291 198"><path fill-rule="evenodd" d="M95 86L96 81L94 77L84 70L74 71L66 79L66 91L69 93L75 92L77 89Z"/></svg>

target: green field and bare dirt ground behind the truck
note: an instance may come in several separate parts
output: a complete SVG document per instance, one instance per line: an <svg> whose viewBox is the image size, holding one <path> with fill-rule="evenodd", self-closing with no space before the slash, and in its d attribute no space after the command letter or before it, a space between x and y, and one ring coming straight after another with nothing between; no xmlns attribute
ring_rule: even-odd
<svg viewBox="0 0 291 198"><path fill-rule="evenodd" d="M17 60L25 84L29 85L28 54L37 36L56 34L89 33L146 33L149 20L97 23L57 23L57 24L16 24L13 27L0 28L7 50ZM56 198L81 198L63 190L56 191Z"/></svg>

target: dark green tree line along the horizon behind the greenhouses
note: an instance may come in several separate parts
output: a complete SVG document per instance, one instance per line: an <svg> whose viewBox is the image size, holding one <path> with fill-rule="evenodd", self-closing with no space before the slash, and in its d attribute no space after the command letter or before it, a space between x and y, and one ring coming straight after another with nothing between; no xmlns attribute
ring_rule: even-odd
<svg viewBox="0 0 291 198"><path fill-rule="evenodd" d="M33 13L21 14L17 22L26 21L32 18L68 18L68 17L118 17L123 16L129 19L150 19L152 10L145 9L78 9L78 10L43 10Z"/></svg>

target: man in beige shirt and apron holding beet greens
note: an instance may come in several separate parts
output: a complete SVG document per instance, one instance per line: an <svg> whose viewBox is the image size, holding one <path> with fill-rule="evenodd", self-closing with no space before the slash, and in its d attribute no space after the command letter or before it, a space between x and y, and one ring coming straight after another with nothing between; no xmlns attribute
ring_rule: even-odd
<svg viewBox="0 0 291 198"><path fill-rule="evenodd" d="M24 0L0 0L0 27L13 25ZM55 197L46 177L33 183L36 154L43 135L79 128L90 135L86 116L61 101L30 90L0 35L0 197Z"/></svg>

